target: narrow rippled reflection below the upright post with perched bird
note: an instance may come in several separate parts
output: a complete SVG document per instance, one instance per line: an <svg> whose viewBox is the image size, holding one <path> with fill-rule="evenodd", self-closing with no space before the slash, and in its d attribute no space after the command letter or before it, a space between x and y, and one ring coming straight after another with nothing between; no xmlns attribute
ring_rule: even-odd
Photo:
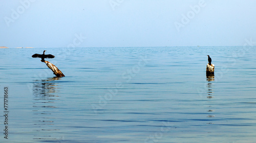
<svg viewBox="0 0 256 143"><path fill-rule="evenodd" d="M212 96L212 94L214 93L213 92L213 84L211 83L211 81L214 81L215 79L214 79L214 76L206 76L206 80L208 81L208 83L206 84L206 87L207 87L207 98L208 99L212 99L212 98L214 98L213 96ZM209 101L210 102L210 101ZM208 106L209 108L212 108L212 106ZM208 109L207 110L207 112L214 112L215 110L213 110L213 109ZM207 116L208 118L212 118L212 117L215 117L215 115L208 115ZM207 124L214 124L214 123L207 123Z"/></svg>

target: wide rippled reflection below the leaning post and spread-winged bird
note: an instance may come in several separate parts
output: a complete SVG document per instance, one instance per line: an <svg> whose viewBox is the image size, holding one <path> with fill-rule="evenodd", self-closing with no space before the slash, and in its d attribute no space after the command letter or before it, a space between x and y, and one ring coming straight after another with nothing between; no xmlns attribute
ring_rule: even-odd
<svg viewBox="0 0 256 143"><path fill-rule="evenodd" d="M34 115L34 138L38 140L59 140L52 136L57 130L54 125L57 108L54 104L59 100L58 85L56 80L60 77L34 80L33 83L33 115Z"/></svg>

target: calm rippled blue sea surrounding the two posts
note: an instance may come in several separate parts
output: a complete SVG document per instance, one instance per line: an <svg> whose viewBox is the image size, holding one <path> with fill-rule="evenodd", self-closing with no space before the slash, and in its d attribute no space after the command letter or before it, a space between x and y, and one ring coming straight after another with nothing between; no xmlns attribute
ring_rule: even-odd
<svg viewBox="0 0 256 143"><path fill-rule="evenodd" d="M44 50L66 77L31 57ZM205 74L207 54L215 76ZM255 54L249 46L0 49L8 115L0 142L256 142Z"/></svg>

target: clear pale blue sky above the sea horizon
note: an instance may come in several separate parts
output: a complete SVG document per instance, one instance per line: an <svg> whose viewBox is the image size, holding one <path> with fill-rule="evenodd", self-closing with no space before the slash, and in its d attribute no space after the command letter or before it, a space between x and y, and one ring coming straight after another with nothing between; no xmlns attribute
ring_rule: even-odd
<svg viewBox="0 0 256 143"><path fill-rule="evenodd" d="M0 1L0 46L10 48L242 46L256 39L253 0Z"/></svg>

